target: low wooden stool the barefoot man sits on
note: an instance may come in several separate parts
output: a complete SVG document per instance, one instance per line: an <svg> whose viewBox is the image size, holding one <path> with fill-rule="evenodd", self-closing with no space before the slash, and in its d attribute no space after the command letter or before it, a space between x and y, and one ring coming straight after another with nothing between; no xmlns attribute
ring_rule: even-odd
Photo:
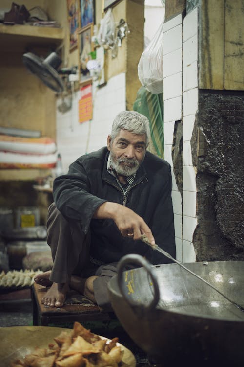
<svg viewBox="0 0 244 367"><path fill-rule="evenodd" d="M49 323L106 321L114 319L114 313L101 312L93 303L64 304L61 308L45 306L41 298L46 293L46 287L34 283L32 286L33 326L48 326ZM68 296L68 295L67 295Z"/></svg>

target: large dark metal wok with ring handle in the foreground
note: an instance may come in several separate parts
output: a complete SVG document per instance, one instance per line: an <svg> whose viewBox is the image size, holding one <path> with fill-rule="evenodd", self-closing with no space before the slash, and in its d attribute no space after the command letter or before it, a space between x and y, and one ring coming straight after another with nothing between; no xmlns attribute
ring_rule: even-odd
<svg viewBox="0 0 244 367"><path fill-rule="evenodd" d="M123 271L129 264L136 269ZM244 261L185 263L244 306ZM162 366L244 366L244 312L178 264L126 255L108 284L112 307L134 342ZM176 365L177 364L177 365Z"/></svg>

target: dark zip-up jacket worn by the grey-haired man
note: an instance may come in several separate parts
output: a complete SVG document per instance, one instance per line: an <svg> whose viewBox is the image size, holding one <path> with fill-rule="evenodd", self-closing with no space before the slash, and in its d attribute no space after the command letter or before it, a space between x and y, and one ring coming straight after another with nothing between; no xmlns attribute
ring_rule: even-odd
<svg viewBox="0 0 244 367"><path fill-rule="evenodd" d="M124 197L116 179L107 172L108 155L104 147L81 156L70 165L67 175L54 180L57 208L66 219L80 221L84 233L91 229L90 254L102 263L117 262L127 253L141 254L152 264L171 262L142 241L123 237L112 219L92 219L106 201L125 205L144 219L156 243L176 257L170 165L146 152Z"/></svg>

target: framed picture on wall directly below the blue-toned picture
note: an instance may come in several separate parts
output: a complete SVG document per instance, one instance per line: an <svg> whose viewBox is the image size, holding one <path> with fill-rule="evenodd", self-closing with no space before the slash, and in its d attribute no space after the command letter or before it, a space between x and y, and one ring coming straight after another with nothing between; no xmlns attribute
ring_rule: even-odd
<svg viewBox="0 0 244 367"><path fill-rule="evenodd" d="M90 79L91 75L87 69L87 62L92 59L93 43L93 24L81 28L78 33L78 49L79 49L79 75L80 82Z"/></svg>

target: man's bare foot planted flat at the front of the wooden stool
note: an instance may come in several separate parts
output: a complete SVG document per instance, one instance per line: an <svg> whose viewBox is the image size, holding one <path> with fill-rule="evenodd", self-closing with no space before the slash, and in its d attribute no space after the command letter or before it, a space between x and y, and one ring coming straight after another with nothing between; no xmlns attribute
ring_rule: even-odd
<svg viewBox="0 0 244 367"><path fill-rule="evenodd" d="M41 303L49 307L62 307L69 291L68 283L52 283L45 296L41 298Z"/></svg>

